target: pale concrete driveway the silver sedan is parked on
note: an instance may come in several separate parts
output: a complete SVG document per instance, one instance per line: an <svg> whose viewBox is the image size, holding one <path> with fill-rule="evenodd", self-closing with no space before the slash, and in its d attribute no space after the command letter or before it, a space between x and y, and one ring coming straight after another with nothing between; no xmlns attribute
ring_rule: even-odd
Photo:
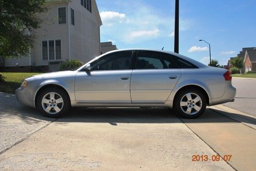
<svg viewBox="0 0 256 171"><path fill-rule="evenodd" d="M167 109L109 108L49 119L0 93L0 170L254 170L256 117L226 114L240 117L220 108L194 120Z"/></svg>

